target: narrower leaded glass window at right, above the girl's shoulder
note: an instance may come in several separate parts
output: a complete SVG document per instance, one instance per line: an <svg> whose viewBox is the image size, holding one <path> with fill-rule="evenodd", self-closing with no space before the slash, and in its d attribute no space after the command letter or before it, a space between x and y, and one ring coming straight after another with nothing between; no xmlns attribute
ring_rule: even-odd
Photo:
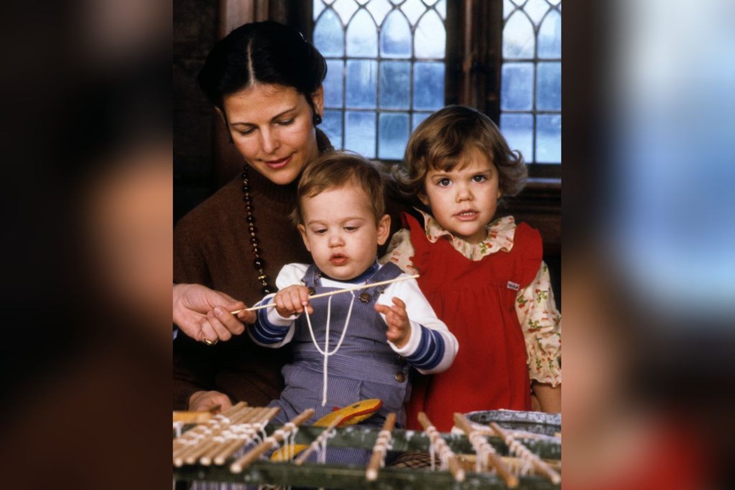
<svg viewBox="0 0 735 490"><path fill-rule="evenodd" d="M561 0L503 0L500 126L526 162L562 162Z"/></svg>

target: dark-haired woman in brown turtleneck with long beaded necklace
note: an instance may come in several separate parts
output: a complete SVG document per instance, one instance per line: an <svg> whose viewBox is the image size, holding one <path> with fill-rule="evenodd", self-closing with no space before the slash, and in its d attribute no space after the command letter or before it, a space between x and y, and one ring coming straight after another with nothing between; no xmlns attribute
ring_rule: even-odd
<svg viewBox="0 0 735 490"><path fill-rule="evenodd" d="M212 49L199 83L245 165L241 176L177 224L174 282L214 289L223 306L227 298L252 304L275 290L273 278L284 264L309 261L289 214L301 171L331 151L316 127L325 76L319 51L276 22L240 26ZM196 288L174 289L175 306L182 299L176 295L187 291ZM265 406L279 397L288 353L232 336L243 323L223 306L198 312L193 337L202 342L188 336L191 328L173 342L174 408L225 408L235 400Z"/></svg>

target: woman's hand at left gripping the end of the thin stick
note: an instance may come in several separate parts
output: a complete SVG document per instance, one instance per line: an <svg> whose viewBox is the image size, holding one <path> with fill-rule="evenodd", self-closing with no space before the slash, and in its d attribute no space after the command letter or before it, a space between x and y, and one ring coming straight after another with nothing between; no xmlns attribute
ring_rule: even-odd
<svg viewBox="0 0 735 490"><path fill-rule="evenodd" d="M245 331L245 323L255 323L254 311L230 311L245 308L223 292L201 284L173 285L173 323L198 342L226 341Z"/></svg>

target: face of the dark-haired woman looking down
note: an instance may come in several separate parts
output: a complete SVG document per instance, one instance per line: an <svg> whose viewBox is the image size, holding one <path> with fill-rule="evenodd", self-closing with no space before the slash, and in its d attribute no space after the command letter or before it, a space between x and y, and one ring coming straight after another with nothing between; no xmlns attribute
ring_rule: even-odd
<svg viewBox="0 0 735 490"><path fill-rule="evenodd" d="M321 114L323 90L312 94ZM290 184L318 154L313 112L293 87L256 84L223 99L232 140L245 161L275 184Z"/></svg>

